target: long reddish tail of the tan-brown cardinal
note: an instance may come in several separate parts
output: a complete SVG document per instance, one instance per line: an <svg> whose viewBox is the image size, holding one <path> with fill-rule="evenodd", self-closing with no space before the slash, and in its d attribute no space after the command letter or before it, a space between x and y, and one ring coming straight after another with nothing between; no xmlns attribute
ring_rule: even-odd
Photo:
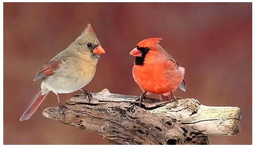
<svg viewBox="0 0 256 147"><path fill-rule="evenodd" d="M33 113L36 112L37 108L43 102L44 98L48 93L49 92L45 93L44 95L41 95L41 89L39 89L33 100L30 102L29 106L26 108L25 112L22 114L19 121L30 119L30 117L33 115Z"/></svg>

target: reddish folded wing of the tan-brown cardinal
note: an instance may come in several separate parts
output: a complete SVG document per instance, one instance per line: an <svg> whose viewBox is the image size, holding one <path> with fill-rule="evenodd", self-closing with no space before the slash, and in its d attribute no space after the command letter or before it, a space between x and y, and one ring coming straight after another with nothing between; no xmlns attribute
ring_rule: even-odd
<svg viewBox="0 0 256 147"><path fill-rule="evenodd" d="M60 61L49 61L48 63L45 63L42 69L37 72L33 81L51 76L58 68L60 68L60 64Z"/></svg>

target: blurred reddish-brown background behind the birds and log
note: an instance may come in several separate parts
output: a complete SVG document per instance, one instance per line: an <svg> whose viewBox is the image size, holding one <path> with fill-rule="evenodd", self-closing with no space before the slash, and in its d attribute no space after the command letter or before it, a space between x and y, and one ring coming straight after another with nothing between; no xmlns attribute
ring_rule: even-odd
<svg viewBox="0 0 256 147"><path fill-rule="evenodd" d="M212 136L212 144L252 143L252 3L4 3L4 144L106 144L102 136L46 119L57 106L49 94L28 121L20 122L40 82L43 63L74 41L91 23L106 54L85 88L139 95L130 50L159 36L186 69L187 91L210 106L242 111L238 136ZM61 94L65 102L71 94Z"/></svg>

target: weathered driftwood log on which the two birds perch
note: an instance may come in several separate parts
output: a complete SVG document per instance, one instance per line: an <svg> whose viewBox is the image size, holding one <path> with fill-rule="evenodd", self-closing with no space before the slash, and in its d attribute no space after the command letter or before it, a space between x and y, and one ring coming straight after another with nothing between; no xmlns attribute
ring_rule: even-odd
<svg viewBox="0 0 256 147"><path fill-rule="evenodd" d="M208 135L236 135L240 131L238 107L201 105L193 98L173 102L147 98L138 106L137 96L92 93L89 102L75 95L65 106L44 109L43 115L80 129L88 129L111 144L211 144Z"/></svg>

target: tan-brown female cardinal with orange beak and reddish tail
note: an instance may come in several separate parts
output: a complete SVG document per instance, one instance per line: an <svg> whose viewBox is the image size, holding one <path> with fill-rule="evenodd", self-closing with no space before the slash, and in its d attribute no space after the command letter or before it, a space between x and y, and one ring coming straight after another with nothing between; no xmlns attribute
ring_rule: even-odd
<svg viewBox="0 0 256 147"><path fill-rule="evenodd" d="M28 120L50 91L57 95L60 113L65 115L66 107L60 103L58 93L82 90L95 75L99 54L103 53L105 51L91 25L87 24L84 32L68 48L45 63L37 72L33 80L42 79L41 88L19 120ZM92 95L83 91L90 100Z"/></svg>

